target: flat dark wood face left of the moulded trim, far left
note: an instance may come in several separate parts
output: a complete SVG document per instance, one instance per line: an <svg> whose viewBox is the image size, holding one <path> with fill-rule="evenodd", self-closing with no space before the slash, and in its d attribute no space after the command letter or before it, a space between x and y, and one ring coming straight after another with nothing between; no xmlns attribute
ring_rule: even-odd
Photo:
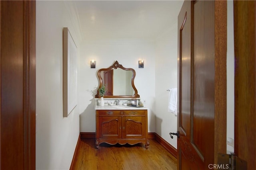
<svg viewBox="0 0 256 170"><path fill-rule="evenodd" d="M18 8L19 6L22 8ZM12 11L10 8L17 10ZM24 29L15 25L23 25L23 8L24 2L22 1L12 5L1 1L1 169L8 166L8 168L14 169L16 166L12 163L14 159L21 167L24 167L25 116L23 115L24 96L22 90L24 63L23 57L19 55L23 53L24 48ZM12 21L14 20L12 16L15 14L17 14L16 23ZM12 31L8 31L10 29ZM18 37L16 37L17 35ZM17 135L7 129L15 129ZM14 156L14 152L16 152L17 157ZM10 159L4 161L5 156Z"/></svg>

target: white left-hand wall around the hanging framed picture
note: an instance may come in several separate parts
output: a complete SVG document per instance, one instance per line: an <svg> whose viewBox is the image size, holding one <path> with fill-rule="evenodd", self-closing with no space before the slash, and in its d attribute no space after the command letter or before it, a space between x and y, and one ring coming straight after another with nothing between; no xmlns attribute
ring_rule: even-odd
<svg viewBox="0 0 256 170"><path fill-rule="evenodd" d="M36 1L36 169L68 170L79 136L77 106L62 113L62 29L79 45L64 1Z"/></svg>

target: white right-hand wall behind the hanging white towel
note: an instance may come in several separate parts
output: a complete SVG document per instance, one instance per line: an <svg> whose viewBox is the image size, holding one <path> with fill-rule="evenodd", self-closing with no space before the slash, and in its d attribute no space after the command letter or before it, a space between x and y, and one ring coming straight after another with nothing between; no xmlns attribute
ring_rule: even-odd
<svg viewBox="0 0 256 170"><path fill-rule="evenodd" d="M171 139L169 133L177 131L177 116L168 112L166 90L177 88L177 22L156 39L156 133L175 148L177 137Z"/></svg>

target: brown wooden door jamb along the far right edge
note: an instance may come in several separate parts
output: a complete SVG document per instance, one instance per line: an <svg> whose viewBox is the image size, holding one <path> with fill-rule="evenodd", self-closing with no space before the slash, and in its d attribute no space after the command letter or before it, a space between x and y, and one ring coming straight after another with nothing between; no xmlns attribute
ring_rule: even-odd
<svg viewBox="0 0 256 170"><path fill-rule="evenodd" d="M256 1L234 1L236 156L256 169Z"/></svg>

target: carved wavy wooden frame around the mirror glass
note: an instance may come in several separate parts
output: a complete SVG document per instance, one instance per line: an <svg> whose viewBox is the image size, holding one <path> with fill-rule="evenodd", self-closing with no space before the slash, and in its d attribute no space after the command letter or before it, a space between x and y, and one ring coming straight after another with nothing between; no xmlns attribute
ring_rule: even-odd
<svg viewBox="0 0 256 170"><path fill-rule="evenodd" d="M112 66L108 67L108 68L101 68L100 70L98 70L97 72L97 76L99 78L100 84L97 90L97 94L95 95L95 98L100 98L100 94L99 94L99 89L103 86L103 80L102 77L100 75L101 71L110 71L112 69L117 69L120 68L122 70L130 70L132 71L133 75L132 75L132 79L131 79L131 83L132 83L132 88L134 90L134 95L133 96L104 96L105 98L140 98L140 95L138 94L138 90L136 89L136 87L134 86L134 78L136 76L136 72L133 68L125 68L122 66L122 64L119 64L118 61L115 61L114 64L112 64Z"/></svg>

